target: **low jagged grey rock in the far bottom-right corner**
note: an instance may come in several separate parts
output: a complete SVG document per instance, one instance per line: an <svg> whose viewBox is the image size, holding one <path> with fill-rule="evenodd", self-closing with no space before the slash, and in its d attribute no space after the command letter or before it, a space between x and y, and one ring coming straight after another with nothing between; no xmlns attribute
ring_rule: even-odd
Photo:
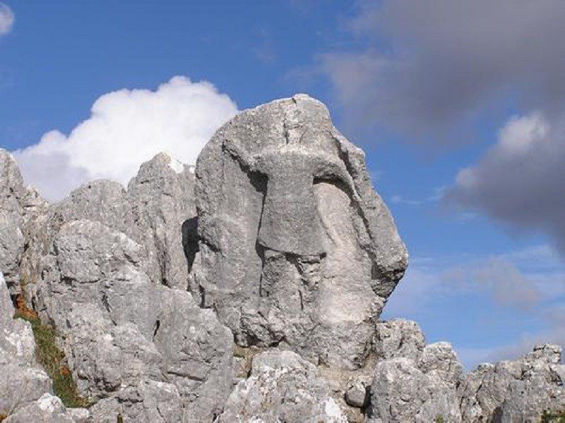
<svg viewBox="0 0 565 423"><path fill-rule="evenodd" d="M465 422L538 422L545 410L565 408L558 345L537 345L525 357L481 364L465 376L458 389Z"/></svg>

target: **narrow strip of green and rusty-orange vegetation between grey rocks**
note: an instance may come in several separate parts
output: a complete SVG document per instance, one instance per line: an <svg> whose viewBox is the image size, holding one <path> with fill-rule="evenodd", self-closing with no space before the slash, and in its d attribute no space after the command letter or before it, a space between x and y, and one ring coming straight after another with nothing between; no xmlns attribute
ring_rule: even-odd
<svg viewBox="0 0 565 423"><path fill-rule="evenodd" d="M35 338L35 355L39 362L53 380L53 391L61 398L66 407L88 407L88 400L78 395L76 384L69 367L65 364L65 355L57 346L57 331L53 326L42 324L42 321L33 310L25 305L23 298L18 298L16 315L20 319L30 322ZM1 421L1 420L0 420Z"/></svg>

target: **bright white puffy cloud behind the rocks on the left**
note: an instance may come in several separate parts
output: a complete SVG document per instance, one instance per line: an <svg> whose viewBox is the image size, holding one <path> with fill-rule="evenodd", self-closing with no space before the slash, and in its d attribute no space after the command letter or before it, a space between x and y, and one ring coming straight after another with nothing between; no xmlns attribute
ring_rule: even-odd
<svg viewBox="0 0 565 423"><path fill-rule="evenodd" d="M98 178L126 185L143 161L162 151L194 164L237 106L210 82L175 76L155 91L104 94L91 112L68 136L52 130L14 152L26 182L49 200Z"/></svg>

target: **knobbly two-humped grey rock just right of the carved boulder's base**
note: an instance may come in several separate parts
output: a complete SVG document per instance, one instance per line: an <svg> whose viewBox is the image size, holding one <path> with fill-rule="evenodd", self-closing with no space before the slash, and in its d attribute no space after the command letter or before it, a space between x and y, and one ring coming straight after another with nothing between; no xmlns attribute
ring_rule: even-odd
<svg viewBox="0 0 565 423"><path fill-rule="evenodd" d="M456 389L463 367L449 343L426 345L418 324L393 319L376 324L374 349L368 422L461 421Z"/></svg>

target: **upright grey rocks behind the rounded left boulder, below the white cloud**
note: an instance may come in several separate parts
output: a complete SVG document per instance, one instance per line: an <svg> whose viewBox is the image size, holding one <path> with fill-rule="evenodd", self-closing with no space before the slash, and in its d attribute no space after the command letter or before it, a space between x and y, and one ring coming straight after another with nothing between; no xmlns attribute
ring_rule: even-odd
<svg viewBox="0 0 565 423"><path fill-rule="evenodd" d="M36 291L42 288L42 272L50 266L44 262L49 247L61 226L81 219L102 223L141 245L144 271L155 283L186 288L186 255L194 255L198 248L188 239L187 223L195 216L194 168L167 154L157 154L142 164L127 191L109 180L81 185L28 223L22 272L28 282L24 288L29 305L33 300L42 311Z"/></svg>

